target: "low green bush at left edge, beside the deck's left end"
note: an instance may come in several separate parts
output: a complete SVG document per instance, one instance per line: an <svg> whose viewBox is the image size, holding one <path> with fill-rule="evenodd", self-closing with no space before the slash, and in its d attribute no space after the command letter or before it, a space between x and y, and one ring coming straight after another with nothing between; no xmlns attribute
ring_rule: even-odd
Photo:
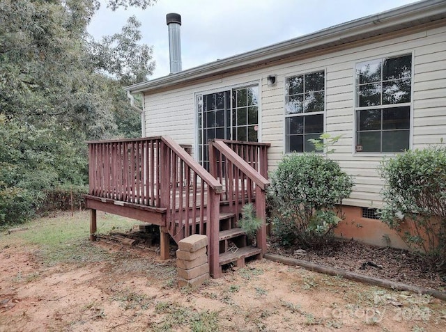
<svg viewBox="0 0 446 332"><path fill-rule="evenodd" d="M0 226L34 216L55 188L87 182L84 143L56 127L37 128L0 114Z"/></svg>

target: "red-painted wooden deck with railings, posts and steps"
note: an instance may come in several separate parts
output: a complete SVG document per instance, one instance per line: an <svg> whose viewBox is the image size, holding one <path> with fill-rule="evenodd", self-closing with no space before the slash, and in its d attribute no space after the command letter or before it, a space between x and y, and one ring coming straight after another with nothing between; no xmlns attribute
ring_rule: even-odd
<svg viewBox="0 0 446 332"><path fill-rule="evenodd" d="M241 207L255 203L265 221L267 148L266 143L212 141L208 172L168 137L89 142L91 239L96 210L159 225L162 258L169 258L169 237L178 242L195 233L207 235L210 273L219 277L222 262L233 258L220 252L222 244L244 236L231 230ZM223 239L222 232L227 233ZM240 257L265 253L265 223L256 243L258 248L240 250ZM240 257L234 260L241 262Z"/></svg>

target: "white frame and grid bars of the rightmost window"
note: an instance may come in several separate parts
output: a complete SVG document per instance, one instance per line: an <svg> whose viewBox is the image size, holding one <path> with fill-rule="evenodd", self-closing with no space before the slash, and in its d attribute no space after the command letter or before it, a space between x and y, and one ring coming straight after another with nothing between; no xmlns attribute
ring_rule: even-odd
<svg viewBox="0 0 446 332"><path fill-rule="evenodd" d="M375 61L381 61L383 63L385 59L388 58L400 58L403 56L410 56L411 59L411 67L410 67L410 102L403 102L403 103L397 103L397 104L383 104L383 91L381 90L381 97L380 97L380 105L375 106L357 106L359 105L359 79L357 77L357 65L360 65L361 63L373 63ZM358 127L357 127L357 111L367 111L367 110L385 110L385 109L394 109L398 107L409 107L409 127L408 127L408 133L409 133L409 142L408 142L408 150L412 149L413 147L413 88L414 88L414 52L397 52L397 53L391 53L391 54L381 54L380 56L375 56L373 58L364 58L360 61L356 61L353 65L353 146L352 146L352 154L356 156L394 156L398 155L400 153L403 153L403 151L392 151L392 152L386 152L383 150L383 140L380 141L380 152L371 152L371 151L357 151L357 133L358 133ZM381 66L381 75L380 75L380 81L378 81L381 86L383 84L383 67ZM382 113L382 112L381 112ZM381 136L385 130L382 129L383 122L381 121L381 129L376 132L380 132Z"/></svg>

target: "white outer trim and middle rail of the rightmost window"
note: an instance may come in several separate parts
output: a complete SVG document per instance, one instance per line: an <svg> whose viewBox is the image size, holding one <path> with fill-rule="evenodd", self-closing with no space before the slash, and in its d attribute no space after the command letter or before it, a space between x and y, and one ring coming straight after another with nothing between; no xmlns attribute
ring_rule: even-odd
<svg viewBox="0 0 446 332"><path fill-rule="evenodd" d="M410 102L401 103L401 104L390 104L390 105L379 105L379 106L363 106L358 107L357 105L357 93L356 93L356 65L358 63L364 63L368 61L374 61L377 59L383 59L383 58L396 58L398 56L405 56L405 55L412 55L412 72L410 77ZM363 58L360 61L356 61L353 63L353 145L352 145L352 155L355 157L395 157L397 155L401 155L401 153L404 152L357 152L356 151L356 111L357 109L385 109L385 108L392 108L394 105L398 106L410 106L410 125L409 125L409 150L413 149L413 86L414 86L414 74L415 74L415 50L408 50L407 52L392 52L389 54L381 54L380 56L374 56L373 58Z"/></svg>

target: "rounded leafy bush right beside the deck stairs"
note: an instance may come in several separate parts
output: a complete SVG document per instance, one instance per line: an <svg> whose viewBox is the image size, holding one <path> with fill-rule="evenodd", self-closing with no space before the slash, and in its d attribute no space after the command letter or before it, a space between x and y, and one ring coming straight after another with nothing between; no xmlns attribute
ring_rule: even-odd
<svg viewBox="0 0 446 332"><path fill-rule="evenodd" d="M341 220L334 207L352 187L336 161L314 153L285 156L268 191L273 234L284 245L320 246Z"/></svg>

